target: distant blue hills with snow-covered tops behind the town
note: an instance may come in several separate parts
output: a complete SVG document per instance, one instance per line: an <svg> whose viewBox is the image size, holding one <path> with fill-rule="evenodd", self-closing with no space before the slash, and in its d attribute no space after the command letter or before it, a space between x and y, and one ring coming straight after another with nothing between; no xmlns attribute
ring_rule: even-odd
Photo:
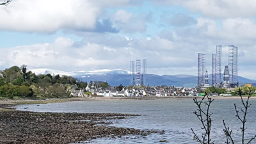
<svg viewBox="0 0 256 144"><path fill-rule="evenodd" d="M94 71L79 71L79 72L64 72L60 70L51 70L46 68L33 69L32 72L35 74L60 74L72 76L82 81L107 81L111 86L117 86L123 84L124 86L131 85L132 76L127 70L94 70ZM238 76L240 84L244 83L256 83L255 80L246 79ZM186 86L195 87L197 83L197 76L189 75L163 75L159 76L156 74L146 74L145 84L150 86L157 85L168 85L168 86ZM211 83L211 75L209 76L209 83Z"/></svg>

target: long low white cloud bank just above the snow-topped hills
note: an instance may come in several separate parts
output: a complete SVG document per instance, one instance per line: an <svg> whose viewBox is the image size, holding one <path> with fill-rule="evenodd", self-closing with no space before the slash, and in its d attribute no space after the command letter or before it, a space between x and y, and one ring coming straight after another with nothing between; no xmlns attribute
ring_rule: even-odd
<svg viewBox="0 0 256 144"><path fill-rule="evenodd" d="M51 44L34 44L0 49L1 66L28 65L31 68L53 68L59 70L97 70L102 68L129 69L129 61L146 58L153 67L179 67L186 60L179 58L170 45L162 38L126 40L130 46L111 47L104 44L84 42L74 47L76 42L69 38L56 38ZM166 61L168 61L166 63ZM179 61L179 63L177 63ZM152 67L150 66L150 67Z"/></svg>

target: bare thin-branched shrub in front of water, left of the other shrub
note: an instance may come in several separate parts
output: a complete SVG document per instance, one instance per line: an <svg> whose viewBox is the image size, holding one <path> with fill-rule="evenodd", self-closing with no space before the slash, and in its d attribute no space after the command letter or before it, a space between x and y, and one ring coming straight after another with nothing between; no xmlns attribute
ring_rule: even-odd
<svg viewBox="0 0 256 144"><path fill-rule="evenodd" d="M204 99L207 99L205 102ZM201 124L203 125L203 133L202 133L202 138L199 138L195 131L191 128L191 131L194 134L194 138L196 141L198 141L201 144L213 144L214 141L211 141L211 115L209 109L211 106L211 103L213 102L214 99L211 99L207 93L205 93L205 96L201 100L197 100L196 98L193 99L194 103L196 104L197 108L196 111L194 112L195 115L197 116L198 120L200 120Z"/></svg>

